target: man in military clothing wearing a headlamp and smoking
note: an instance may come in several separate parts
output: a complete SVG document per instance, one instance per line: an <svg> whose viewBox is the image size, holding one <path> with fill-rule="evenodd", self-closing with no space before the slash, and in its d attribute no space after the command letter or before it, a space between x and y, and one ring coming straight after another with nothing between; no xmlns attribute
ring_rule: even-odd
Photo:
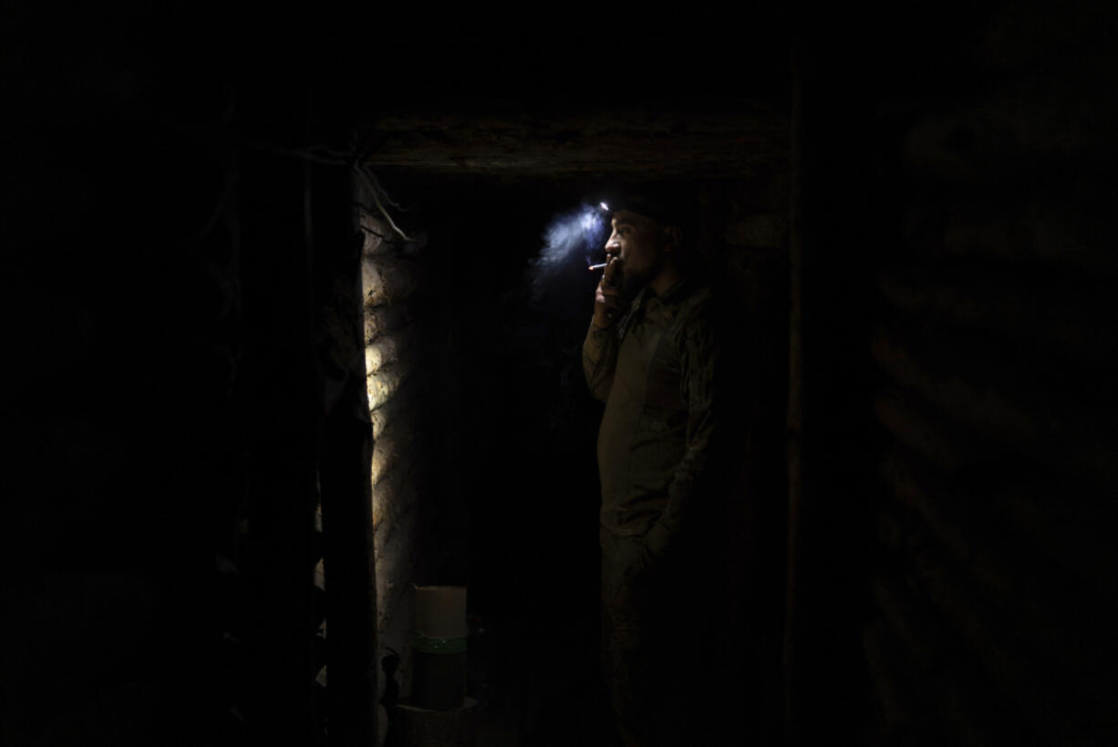
<svg viewBox="0 0 1118 747"><path fill-rule="evenodd" d="M697 599L717 521L710 490L717 344L685 221L648 200L612 216L582 369L606 403L603 674L627 745L700 744ZM698 603L698 604L697 604Z"/></svg>

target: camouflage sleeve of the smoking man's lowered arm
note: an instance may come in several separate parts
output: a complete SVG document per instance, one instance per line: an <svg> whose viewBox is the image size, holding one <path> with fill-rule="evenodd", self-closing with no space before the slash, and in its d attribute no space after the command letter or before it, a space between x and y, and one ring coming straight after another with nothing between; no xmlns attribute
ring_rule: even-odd
<svg viewBox="0 0 1118 747"><path fill-rule="evenodd" d="M713 438L718 431L716 370L719 349L711 325L701 319L683 334L680 394L688 407L686 450L667 488L667 504L644 540L646 562L671 552L672 541L683 531L702 500L702 479L709 475Z"/></svg>

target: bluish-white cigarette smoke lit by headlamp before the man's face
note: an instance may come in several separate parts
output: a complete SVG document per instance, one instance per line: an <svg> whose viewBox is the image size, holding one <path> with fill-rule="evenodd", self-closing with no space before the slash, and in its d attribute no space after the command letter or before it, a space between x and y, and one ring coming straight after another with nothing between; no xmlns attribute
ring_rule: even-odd
<svg viewBox="0 0 1118 747"><path fill-rule="evenodd" d="M543 231L540 256L529 266L533 300L539 302L550 292L560 291L572 271L585 278L594 253L605 257L605 240L606 216L597 206L584 202L553 217Z"/></svg>

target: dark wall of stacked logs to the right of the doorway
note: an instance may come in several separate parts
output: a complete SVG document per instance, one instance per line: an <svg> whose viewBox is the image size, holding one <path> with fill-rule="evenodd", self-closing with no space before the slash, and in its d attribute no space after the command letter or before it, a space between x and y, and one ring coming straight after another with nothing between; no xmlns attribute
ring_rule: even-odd
<svg viewBox="0 0 1118 747"><path fill-rule="evenodd" d="M968 39L978 84L875 114L869 744L1118 732L1118 57L1101 28L993 13Z"/></svg>

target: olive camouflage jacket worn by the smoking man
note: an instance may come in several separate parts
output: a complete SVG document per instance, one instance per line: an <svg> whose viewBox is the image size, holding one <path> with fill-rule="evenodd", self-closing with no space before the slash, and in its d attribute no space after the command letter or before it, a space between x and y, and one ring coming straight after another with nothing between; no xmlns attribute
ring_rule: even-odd
<svg viewBox="0 0 1118 747"><path fill-rule="evenodd" d="M645 287L622 319L593 321L582 371L606 403L598 432L601 527L664 555L702 509L698 483L716 432L718 348L710 291L683 278L663 297Z"/></svg>

